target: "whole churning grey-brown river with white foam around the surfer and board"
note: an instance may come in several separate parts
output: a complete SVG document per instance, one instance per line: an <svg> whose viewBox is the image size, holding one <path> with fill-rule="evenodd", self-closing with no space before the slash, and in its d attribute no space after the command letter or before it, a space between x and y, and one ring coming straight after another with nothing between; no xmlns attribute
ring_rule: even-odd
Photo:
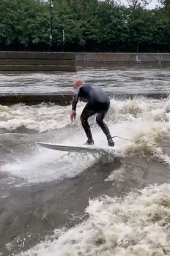
<svg viewBox="0 0 170 256"><path fill-rule="evenodd" d="M1 73L0 93L72 93L75 79L107 92L167 93L111 99L115 155L68 154L36 141L83 144L84 102L0 105L0 255L170 255L170 69ZM105 135L89 119L96 145Z"/></svg>

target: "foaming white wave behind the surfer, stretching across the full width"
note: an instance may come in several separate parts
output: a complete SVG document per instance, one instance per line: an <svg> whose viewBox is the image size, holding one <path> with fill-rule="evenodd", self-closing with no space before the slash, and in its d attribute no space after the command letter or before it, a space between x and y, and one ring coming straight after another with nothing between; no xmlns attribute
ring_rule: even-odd
<svg viewBox="0 0 170 256"><path fill-rule="evenodd" d="M60 143L84 143L85 133L80 123L80 115L85 103L77 106L77 119L70 123L70 106L55 104L41 104L26 106L23 104L10 107L0 105L0 128L6 131L18 131L21 127L32 129L38 133L55 129L72 128L72 136L65 134ZM96 145L107 143L105 135L96 125L95 117L89 119ZM111 100L111 109L106 116L106 122L113 136L120 136L129 140L115 138L115 150L121 157L143 154L156 161L170 164L170 157L162 143L170 140L170 100L156 99L127 99ZM66 137L69 137L68 140ZM71 139L71 137L73 137ZM78 139L77 139L78 138ZM71 140L70 140L71 139ZM54 139L55 140L55 139Z"/></svg>

